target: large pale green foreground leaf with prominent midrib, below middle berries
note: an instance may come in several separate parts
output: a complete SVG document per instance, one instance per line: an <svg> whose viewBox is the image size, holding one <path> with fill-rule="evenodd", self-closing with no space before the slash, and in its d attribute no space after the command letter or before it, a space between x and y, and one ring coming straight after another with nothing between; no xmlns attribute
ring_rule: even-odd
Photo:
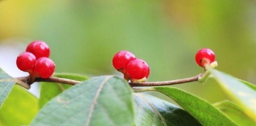
<svg viewBox="0 0 256 126"><path fill-rule="evenodd" d="M131 126L132 91L114 76L95 77L76 84L50 100L32 126Z"/></svg>

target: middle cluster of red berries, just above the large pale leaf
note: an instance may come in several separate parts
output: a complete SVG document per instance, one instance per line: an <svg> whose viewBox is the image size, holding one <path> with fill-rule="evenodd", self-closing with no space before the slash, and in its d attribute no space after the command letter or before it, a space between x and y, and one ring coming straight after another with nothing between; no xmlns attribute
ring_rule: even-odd
<svg viewBox="0 0 256 126"><path fill-rule="evenodd" d="M117 52L112 60L112 64L116 70L122 72L126 80L140 80L148 78L150 68L147 63L141 59L137 59L134 54L129 51Z"/></svg>

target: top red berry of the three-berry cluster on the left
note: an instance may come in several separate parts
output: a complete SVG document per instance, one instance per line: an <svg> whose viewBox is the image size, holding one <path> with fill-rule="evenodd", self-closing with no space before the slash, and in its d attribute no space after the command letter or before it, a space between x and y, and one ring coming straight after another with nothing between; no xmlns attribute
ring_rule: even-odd
<svg viewBox="0 0 256 126"><path fill-rule="evenodd" d="M36 56L36 59L50 56L50 48L43 41L34 41L28 44L26 51L33 53Z"/></svg>

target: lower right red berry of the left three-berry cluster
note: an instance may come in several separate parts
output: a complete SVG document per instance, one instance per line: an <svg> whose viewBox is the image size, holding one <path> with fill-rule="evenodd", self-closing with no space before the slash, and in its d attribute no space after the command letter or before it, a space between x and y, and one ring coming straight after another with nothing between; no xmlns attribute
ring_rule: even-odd
<svg viewBox="0 0 256 126"><path fill-rule="evenodd" d="M54 69L54 62L47 57L41 57L36 61L35 70L37 74L42 78L51 77L51 75L54 72Z"/></svg>

